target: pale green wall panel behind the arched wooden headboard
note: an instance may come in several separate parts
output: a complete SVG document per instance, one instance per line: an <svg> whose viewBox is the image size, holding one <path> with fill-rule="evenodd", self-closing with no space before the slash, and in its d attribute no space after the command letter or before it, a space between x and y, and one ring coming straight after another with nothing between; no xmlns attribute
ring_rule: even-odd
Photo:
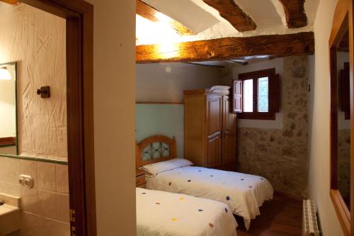
<svg viewBox="0 0 354 236"><path fill-rule="evenodd" d="M183 105L137 104L137 141L152 135L176 137L177 157L183 157Z"/></svg>

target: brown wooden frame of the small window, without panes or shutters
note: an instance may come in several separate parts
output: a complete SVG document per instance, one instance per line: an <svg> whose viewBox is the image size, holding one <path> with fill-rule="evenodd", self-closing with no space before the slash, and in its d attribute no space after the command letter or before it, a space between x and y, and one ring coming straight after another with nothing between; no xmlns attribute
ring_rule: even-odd
<svg viewBox="0 0 354 236"><path fill-rule="evenodd" d="M258 79L261 77L270 78L275 76L275 68L262 69L256 72L247 72L239 74L239 80L242 81L242 97L244 98L244 81L248 79L253 79L253 112L244 112L242 108L242 113L239 113L239 119L252 119L252 120L275 120L275 111L272 111L273 104L270 99L270 84L268 89L268 112L258 112ZM243 101L242 101L243 105Z"/></svg>

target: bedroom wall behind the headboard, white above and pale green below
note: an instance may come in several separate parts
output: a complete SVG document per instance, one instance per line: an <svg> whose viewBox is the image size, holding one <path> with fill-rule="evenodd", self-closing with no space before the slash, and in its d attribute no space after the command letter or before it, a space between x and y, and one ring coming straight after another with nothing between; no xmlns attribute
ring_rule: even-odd
<svg viewBox="0 0 354 236"><path fill-rule="evenodd" d="M183 91L217 85L218 67L185 63L137 64L137 101L183 102ZM137 141L152 135L176 137L177 157L183 157L183 104L137 104Z"/></svg>

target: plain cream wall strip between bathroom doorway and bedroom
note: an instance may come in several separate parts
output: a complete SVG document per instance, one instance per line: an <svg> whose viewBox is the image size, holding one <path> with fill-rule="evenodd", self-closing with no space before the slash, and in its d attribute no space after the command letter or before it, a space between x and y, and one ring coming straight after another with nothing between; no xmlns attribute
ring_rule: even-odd
<svg viewBox="0 0 354 236"><path fill-rule="evenodd" d="M135 1L94 5L94 131L98 236L136 235Z"/></svg>

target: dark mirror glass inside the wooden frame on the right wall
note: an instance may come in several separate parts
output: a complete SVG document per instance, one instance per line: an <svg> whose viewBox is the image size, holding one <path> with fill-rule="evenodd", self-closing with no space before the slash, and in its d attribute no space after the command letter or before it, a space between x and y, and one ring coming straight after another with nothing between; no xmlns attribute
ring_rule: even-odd
<svg viewBox="0 0 354 236"><path fill-rule="evenodd" d="M350 209L350 65L349 65L349 34L337 47L337 186L344 203Z"/></svg>

